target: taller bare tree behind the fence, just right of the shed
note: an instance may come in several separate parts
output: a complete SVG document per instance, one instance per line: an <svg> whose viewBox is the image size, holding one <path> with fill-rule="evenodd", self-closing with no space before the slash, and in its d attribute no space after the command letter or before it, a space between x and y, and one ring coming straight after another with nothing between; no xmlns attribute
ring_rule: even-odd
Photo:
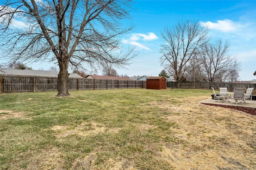
<svg viewBox="0 0 256 170"><path fill-rule="evenodd" d="M164 28L161 32L164 44L160 49L160 61L178 84L192 71L189 61L196 50L208 42L207 34L208 28L190 21L178 22L176 26Z"/></svg>

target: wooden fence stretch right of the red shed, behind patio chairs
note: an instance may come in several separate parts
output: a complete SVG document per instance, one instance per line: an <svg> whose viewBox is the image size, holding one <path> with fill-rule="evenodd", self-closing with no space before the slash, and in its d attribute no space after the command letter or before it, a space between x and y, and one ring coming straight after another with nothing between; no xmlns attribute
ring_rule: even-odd
<svg viewBox="0 0 256 170"><path fill-rule="evenodd" d="M177 82L167 82L167 88L178 88ZM234 88L256 89L256 84L252 83L225 83L225 82L181 82L181 89L212 89L219 90L220 87L227 87L228 91L234 91Z"/></svg>

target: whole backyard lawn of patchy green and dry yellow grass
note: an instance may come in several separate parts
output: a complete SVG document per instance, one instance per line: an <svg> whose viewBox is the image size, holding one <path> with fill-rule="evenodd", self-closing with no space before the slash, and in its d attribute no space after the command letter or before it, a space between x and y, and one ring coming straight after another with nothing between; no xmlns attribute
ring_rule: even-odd
<svg viewBox="0 0 256 170"><path fill-rule="evenodd" d="M56 94L0 95L0 169L256 169L256 117L210 90Z"/></svg>

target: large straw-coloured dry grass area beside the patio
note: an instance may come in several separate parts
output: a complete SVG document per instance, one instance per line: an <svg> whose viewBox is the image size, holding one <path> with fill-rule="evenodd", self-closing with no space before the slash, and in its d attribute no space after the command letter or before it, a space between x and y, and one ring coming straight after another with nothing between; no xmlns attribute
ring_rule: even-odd
<svg viewBox="0 0 256 170"><path fill-rule="evenodd" d="M255 117L198 103L203 99L190 97L178 106L159 102L169 113L163 119L178 123L172 135L184 141L163 144L160 158L179 170L256 169Z"/></svg>

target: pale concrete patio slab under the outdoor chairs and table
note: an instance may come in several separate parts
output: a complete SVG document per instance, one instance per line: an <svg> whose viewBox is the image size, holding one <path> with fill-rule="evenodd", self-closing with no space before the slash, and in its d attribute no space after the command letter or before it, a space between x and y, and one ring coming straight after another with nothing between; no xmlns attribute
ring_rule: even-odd
<svg viewBox="0 0 256 170"><path fill-rule="evenodd" d="M256 100L245 100L246 103L243 104L236 104L235 100L233 99L228 99L228 103L226 102L218 102L218 100L215 99L206 99L203 101L200 101L200 103L209 103L209 104L215 104L215 105L229 105L229 106L240 106L240 107L252 107L252 108L256 108Z"/></svg>

